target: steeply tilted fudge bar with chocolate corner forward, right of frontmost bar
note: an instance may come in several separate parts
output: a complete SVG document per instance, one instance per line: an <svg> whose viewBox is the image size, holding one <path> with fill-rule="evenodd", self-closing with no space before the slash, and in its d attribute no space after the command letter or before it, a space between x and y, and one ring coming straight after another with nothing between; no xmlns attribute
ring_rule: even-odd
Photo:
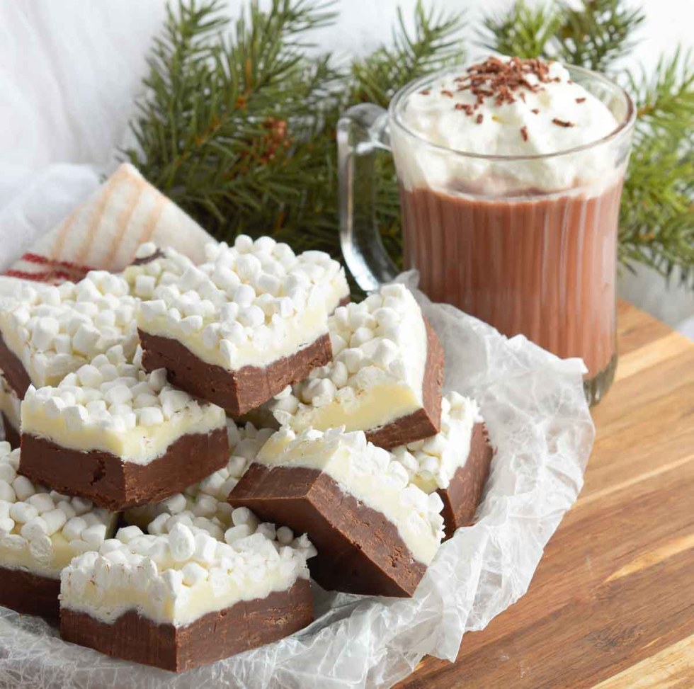
<svg viewBox="0 0 694 689"><path fill-rule="evenodd" d="M438 494L409 483L363 431L280 429L229 503L306 532L318 549L311 575L332 591L412 596L443 538Z"/></svg>

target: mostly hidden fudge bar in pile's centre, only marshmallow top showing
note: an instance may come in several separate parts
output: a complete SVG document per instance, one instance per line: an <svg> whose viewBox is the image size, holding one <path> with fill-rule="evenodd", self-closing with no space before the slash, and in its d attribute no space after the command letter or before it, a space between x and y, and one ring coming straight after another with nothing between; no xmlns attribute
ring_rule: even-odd
<svg viewBox="0 0 694 689"><path fill-rule="evenodd" d="M164 501L127 510L125 520L146 530L159 517L159 522L149 529L150 533L157 533L159 525L166 521L161 515L168 517L186 511L193 515L193 525L205 528L205 518L217 518L218 526L229 528L232 506L227 503L227 497L274 432L272 428L256 428L252 423L238 427L227 419L229 461L226 467Z"/></svg>

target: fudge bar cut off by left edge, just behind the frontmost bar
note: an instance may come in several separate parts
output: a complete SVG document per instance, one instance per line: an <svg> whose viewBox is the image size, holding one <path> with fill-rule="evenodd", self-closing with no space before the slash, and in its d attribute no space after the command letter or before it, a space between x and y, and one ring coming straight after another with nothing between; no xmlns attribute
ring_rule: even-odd
<svg viewBox="0 0 694 689"><path fill-rule="evenodd" d="M0 443L0 605L57 617L61 569L98 550L116 515L33 484L17 473L19 457Z"/></svg>

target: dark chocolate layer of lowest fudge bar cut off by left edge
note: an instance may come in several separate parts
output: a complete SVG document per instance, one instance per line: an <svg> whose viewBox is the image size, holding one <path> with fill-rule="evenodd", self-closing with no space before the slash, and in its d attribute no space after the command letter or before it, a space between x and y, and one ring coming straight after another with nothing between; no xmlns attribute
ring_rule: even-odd
<svg viewBox="0 0 694 689"><path fill-rule="evenodd" d="M57 619L60 579L0 567L0 605L18 613Z"/></svg>

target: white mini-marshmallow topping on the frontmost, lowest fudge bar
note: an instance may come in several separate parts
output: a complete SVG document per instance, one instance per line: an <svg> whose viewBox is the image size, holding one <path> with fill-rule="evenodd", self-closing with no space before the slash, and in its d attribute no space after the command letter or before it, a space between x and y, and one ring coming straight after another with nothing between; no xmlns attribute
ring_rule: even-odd
<svg viewBox="0 0 694 689"><path fill-rule="evenodd" d="M306 560L316 550L305 535L258 523L246 508L234 510L232 522L223 542L180 522L161 535L123 528L62 571L60 605L107 624L136 610L183 627L309 578Z"/></svg>

